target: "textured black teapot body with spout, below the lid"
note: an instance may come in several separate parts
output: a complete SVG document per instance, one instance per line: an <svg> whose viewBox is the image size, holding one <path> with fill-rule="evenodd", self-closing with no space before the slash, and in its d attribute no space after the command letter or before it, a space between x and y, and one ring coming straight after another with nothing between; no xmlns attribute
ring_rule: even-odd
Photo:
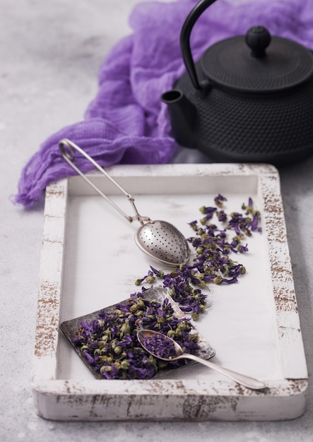
<svg viewBox="0 0 313 442"><path fill-rule="evenodd" d="M163 101L180 145L218 162L287 165L313 152L312 97L312 81L288 92L244 94L208 84L196 90L185 74Z"/></svg>

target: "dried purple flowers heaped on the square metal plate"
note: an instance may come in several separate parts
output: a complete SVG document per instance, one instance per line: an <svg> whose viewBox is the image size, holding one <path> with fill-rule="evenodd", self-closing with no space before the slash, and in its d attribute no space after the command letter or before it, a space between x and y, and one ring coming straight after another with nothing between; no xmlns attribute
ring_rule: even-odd
<svg viewBox="0 0 313 442"><path fill-rule="evenodd" d="M156 330L174 339L187 353L199 349L198 335L190 320L177 318L170 301L147 299L144 292L112 311L100 311L93 321L83 321L74 345L90 367L107 379L152 378L160 370L187 362L164 362L143 350L136 333L142 328Z"/></svg>

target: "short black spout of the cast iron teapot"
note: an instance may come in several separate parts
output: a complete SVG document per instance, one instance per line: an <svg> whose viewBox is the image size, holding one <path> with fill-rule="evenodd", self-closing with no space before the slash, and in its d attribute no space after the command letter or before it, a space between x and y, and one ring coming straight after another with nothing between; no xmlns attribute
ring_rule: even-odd
<svg viewBox="0 0 313 442"><path fill-rule="evenodd" d="M193 144L192 129L196 118L196 107L179 89L172 89L161 95L161 100L167 104L172 126L172 136L183 146Z"/></svg>

